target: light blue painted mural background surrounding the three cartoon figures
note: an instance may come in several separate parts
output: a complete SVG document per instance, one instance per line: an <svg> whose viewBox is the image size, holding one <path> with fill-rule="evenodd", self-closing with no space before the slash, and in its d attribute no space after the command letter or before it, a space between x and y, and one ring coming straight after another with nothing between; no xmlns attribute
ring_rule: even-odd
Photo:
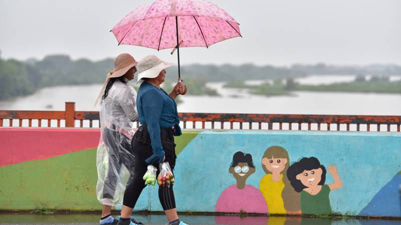
<svg viewBox="0 0 401 225"><path fill-rule="evenodd" d="M401 135L399 133L314 132L314 131L204 131L178 155L175 167L175 199L178 211L215 211L222 191L235 184L228 172L233 154L251 153L256 172L246 184L259 188L265 175L262 156L272 145L284 147L290 162L302 157L317 157L324 166L335 164L343 187L330 192L334 212L357 215L376 193L401 170ZM326 183L333 182L326 174ZM150 204L161 211L157 186L139 199L138 205ZM395 206L394 206L395 207ZM140 209L135 207L135 209ZM367 211L376 215L374 211ZM378 214L377 214L378 215ZM401 216L387 210L379 215Z"/></svg>

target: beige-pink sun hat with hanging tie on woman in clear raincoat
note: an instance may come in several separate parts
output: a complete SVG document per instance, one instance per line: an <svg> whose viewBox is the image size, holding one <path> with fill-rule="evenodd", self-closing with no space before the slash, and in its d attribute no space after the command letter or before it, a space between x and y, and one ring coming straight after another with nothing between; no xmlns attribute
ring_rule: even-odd
<svg viewBox="0 0 401 225"><path fill-rule="evenodd" d="M109 73L107 74L106 80L103 83L102 89L100 90L100 93L98 94L98 96L96 98L95 106L99 102L99 98L102 95L104 87L106 86L109 78L120 77L120 76L124 75L130 68L132 68L133 66L138 64L138 62L134 59L134 57L132 57L132 55L130 55L128 53L122 53L122 54L117 55L114 58L113 63L114 63L114 69L109 71Z"/></svg>

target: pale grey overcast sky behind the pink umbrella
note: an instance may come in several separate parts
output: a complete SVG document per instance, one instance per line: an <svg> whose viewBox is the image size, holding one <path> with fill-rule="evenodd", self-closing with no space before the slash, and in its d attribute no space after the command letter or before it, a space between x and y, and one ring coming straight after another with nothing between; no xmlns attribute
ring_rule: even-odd
<svg viewBox="0 0 401 225"><path fill-rule="evenodd" d="M180 49L182 64L401 64L401 0L211 0L241 25L209 49ZM103 59L128 52L176 61L169 49L120 45L109 30L151 0L0 0L3 58L64 53Z"/></svg>

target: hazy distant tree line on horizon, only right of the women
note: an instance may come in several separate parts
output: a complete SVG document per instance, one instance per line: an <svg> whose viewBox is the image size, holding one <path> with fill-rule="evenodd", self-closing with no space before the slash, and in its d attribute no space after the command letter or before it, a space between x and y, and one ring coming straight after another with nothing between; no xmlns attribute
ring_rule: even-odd
<svg viewBox="0 0 401 225"><path fill-rule="evenodd" d="M177 67L170 67L168 78L178 74ZM292 66L257 66L254 64L242 65L213 65L191 64L181 66L181 76L202 77L208 81L232 81L250 79L275 79L307 75L357 75L369 74L376 76L401 75L401 66L394 64L370 64L367 66L338 66L317 63L315 65L293 64ZM176 77L174 77L176 78Z"/></svg>

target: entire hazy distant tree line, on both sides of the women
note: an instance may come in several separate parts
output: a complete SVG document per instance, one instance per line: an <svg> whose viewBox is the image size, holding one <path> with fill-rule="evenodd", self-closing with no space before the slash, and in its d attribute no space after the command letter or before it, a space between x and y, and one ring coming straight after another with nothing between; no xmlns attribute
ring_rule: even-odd
<svg viewBox="0 0 401 225"><path fill-rule="evenodd" d="M27 95L46 86L102 83L113 59L99 61L72 60L68 55L49 55L43 60L19 61L0 58L0 99ZM177 66L167 69L167 79L175 82ZM191 64L181 66L181 76L188 83L205 86L206 81L232 81L306 76L309 74L401 75L398 65L333 66L294 64L285 66ZM192 94L216 94L208 88L197 88Z"/></svg>

